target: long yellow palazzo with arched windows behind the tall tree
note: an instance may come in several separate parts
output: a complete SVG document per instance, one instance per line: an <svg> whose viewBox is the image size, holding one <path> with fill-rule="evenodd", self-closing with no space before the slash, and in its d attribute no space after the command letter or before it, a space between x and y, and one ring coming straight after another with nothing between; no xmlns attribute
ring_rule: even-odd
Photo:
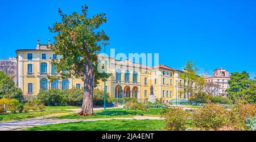
<svg viewBox="0 0 256 142"><path fill-rule="evenodd" d="M72 87L81 88L83 85L81 79L73 77L53 82L47 79L47 75L58 75L51 64L51 59L61 57L51 49L47 49L46 44L39 44L39 40L36 49L16 50L16 55L18 86L24 95L36 95L40 89L71 89ZM154 87L155 98L162 98L164 103L176 97L188 96L188 93L183 92L185 84L179 79L179 72L182 72L180 70L161 64L147 67L129 59L118 61L102 55L99 55L99 58L106 61L106 71L112 74L106 81L106 91L112 97L136 97L144 101L150 95L151 85ZM97 88L103 91L104 82L100 81Z"/></svg>

